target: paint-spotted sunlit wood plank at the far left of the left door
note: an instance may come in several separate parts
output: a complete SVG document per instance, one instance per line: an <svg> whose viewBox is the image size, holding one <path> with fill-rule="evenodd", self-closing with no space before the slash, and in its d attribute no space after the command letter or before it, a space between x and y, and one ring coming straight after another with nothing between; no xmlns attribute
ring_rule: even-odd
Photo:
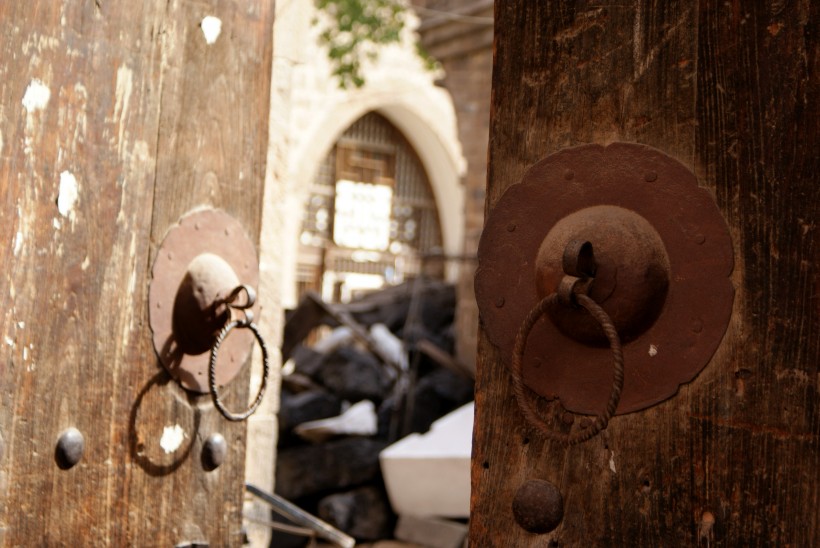
<svg viewBox="0 0 820 548"><path fill-rule="evenodd" d="M9 267L0 297L0 528L9 545L106 543L119 526L112 502L127 410L118 370L145 357L134 311L146 296L160 4L0 6ZM85 453L61 470L55 445L72 426Z"/></svg>

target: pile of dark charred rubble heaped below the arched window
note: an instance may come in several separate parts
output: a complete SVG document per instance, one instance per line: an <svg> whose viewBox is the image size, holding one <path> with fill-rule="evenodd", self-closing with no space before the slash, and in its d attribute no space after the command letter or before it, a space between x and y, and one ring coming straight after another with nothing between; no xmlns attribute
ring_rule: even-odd
<svg viewBox="0 0 820 548"><path fill-rule="evenodd" d="M282 346L279 495L359 541L393 538L380 452L473 399L452 357L454 310L454 288L426 279L345 305L302 300ZM309 344L317 326L329 333ZM275 533L272 545L304 541Z"/></svg>

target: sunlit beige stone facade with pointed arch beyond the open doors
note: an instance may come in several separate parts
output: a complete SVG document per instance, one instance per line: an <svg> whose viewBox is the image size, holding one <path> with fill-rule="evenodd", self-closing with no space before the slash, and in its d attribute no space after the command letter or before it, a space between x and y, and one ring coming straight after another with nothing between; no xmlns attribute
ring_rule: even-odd
<svg viewBox="0 0 820 548"><path fill-rule="evenodd" d="M382 48L378 60L366 65L366 84L362 88L344 90L331 74L326 52L318 45L315 17L309 0L276 2L259 292L260 302L271 310L296 304L299 236L312 182L340 135L367 113L376 112L386 118L420 160L439 212L443 254L464 255L464 242L476 237L465 233L476 231L476 220L467 217L475 209L468 202L477 199L468 195L471 191L465 192L465 182L478 175L469 175L475 166L468 166L462 153L459 133L463 134L464 128L457 125L457 107L451 92L437 82L442 74L425 68L416 54L412 29L408 29L402 44ZM415 27L418 19L412 19L411 27ZM474 107L463 105L466 103L459 108L468 111L485 108L479 102ZM470 154L475 152L471 149ZM480 163L483 177L483 161ZM483 179L479 186L483 186ZM448 261L446 276L464 285L464 280L472 279L472 264ZM472 313L470 305L459 308ZM264 310L263 317L271 346L278 347L282 320L264 316ZM465 320L466 324L476 322L475 317ZM467 332L474 333L475 327ZM474 347L471 342L462 344ZM255 369L261 368L257 364ZM266 398L265 409L248 423L246 476L249 482L268 489L273 488L271 455L275 455L279 387L276 377L269 387L271 395ZM249 503L246 512L264 515L264 508L252 506ZM246 525L252 544L266 545L265 529Z"/></svg>

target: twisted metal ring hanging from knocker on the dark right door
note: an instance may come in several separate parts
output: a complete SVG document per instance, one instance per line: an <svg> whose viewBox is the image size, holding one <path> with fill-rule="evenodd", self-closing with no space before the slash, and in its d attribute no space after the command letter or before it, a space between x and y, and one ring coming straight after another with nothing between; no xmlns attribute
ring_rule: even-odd
<svg viewBox="0 0 820 548"><path fill-rule="evenodd" d="M530 331L532 331L533 326L541 318L541 316L546 313L549 306L555 302L556 298L557 295L553 293L542 299L530 311L529 315L527 315L524 319L521 329L518 330L518 335L515 338L515 346L513 347L511 365L513 373L513 390L515 391L515 399L518 402L518 407L521 409L521 412L524 414L524 418L527 419L527 421L536 426L549 439L560 441L567 445L575 445L576 443L581 443L590 439L598 432L606 428L606 425L609 423L609 419L611 419L612 415L615 414L615 409L618 407L618 402L621 400L621 390L624 385L624 356L623 349L621 348L621 339L618 336L618 331L615 329L615 325L612 323L612 319L609 315L603 308L598 306L598 303L593 301L587 295L576 295L578 304L583 306L586 311L589 312L599 324L601 324L601 328L604 330L607 339L609 339L609 346L612 349L615 370L613 375L612 391L609 394L609 401L607 402L606 410L602 414L595 417L595 420L590 427L576 430L569 434L556 432L550 429L547 423L538 416L532 401L530 401L527 397L527 387L524 385L522 374L522 361L524 359L524 350L527 345L527 337L529 337Z"/></svg>

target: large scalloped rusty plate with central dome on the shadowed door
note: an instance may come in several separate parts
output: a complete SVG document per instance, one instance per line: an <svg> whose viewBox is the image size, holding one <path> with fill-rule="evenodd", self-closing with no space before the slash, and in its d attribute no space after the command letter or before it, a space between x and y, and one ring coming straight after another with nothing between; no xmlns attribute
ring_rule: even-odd
<svg viewBox="0 0 820 548"><path fill-rule="evenodd" d="M731 316L733 250L717 205L684 165L645 145L583 145L533 165L490 213L478 260L481 319L508 364L524 320L558 293L527 333L522 375L577 413L607 402L613 353L599 321L562 302L567 279L587 280L620 336L617 414L691 381Z"/></svg>

